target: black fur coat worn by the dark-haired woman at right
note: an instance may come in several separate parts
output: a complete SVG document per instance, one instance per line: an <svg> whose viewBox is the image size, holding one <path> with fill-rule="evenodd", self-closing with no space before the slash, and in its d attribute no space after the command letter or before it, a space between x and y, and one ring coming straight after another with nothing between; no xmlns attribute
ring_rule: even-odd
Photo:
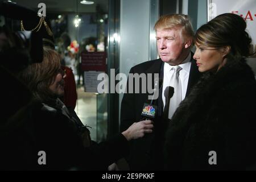
<svg viewBox="0 0 256 182"><path fill-rule="evenodd" d="M166 169L246 169L255 163L256 82L244 61L201 78L176 110L164 149ZM216 165L209 164L210 151Z"/></svg>

